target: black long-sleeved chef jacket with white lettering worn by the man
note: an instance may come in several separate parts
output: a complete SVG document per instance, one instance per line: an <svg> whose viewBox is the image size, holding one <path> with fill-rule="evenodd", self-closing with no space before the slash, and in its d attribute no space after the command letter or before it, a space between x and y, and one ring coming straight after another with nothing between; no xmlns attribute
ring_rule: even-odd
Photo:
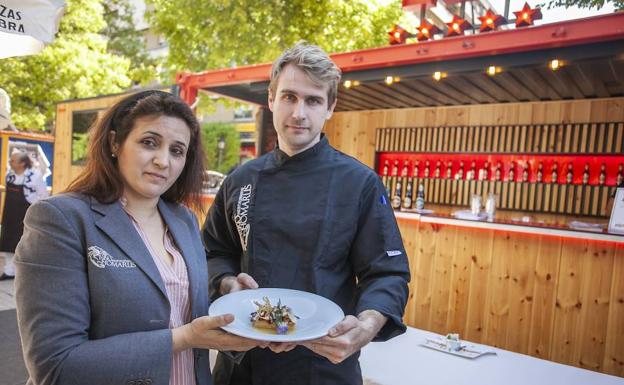
<svg viewBox="0 0 624 385"><path fill-rule="evenodd" d="M237 168L217 193L203 235L213 298L223 277L246 272L260 287L316 293L345 314L379 311L388 322L376 341L405 331L409 266L385 188L324 136L292 157L276 149ZM334 365L302 346L253 349L229 369L247 372L254 385L361 384L358 357Z"/></svg>

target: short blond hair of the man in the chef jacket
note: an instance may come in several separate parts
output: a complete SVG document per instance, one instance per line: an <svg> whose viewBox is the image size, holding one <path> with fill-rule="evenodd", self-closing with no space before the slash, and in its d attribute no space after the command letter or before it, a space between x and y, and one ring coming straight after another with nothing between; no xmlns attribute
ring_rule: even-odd
<svg viewBox="0 0 624 385"><path fill-rule="evenodd" d="M282 70L288 64L294 64L303 70L316 85L327 84L327 108L330 108L338 96L338 84L340 83L341 71L329 55L319 46L300 41L292 48L287 49L273 62L271 68L271 83L269 90L275 97L277 81Z"/></svg>

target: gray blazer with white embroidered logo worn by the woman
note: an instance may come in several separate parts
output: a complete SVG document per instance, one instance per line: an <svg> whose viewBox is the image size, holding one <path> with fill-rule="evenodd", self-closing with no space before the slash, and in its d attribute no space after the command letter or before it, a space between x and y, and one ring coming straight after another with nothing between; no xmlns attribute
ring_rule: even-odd
<svg viewBox="0 0 624 385"><path fill-rule="evenodd" d="M208 271L197 219L158 209L186 261L191 315L208 314ZM15 295L28 384L168 385L172 338L164 283L118 202L62 194L32 205L17 246ZM195 349L197 385L211 385Z"/></svg>

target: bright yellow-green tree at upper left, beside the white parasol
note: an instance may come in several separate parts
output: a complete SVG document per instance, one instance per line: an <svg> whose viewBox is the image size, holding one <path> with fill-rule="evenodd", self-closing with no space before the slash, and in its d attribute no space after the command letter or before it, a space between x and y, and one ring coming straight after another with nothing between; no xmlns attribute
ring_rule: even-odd
<svg viewBox="0 0 624 385"><path fill-rule="evenodd" d="M61 100L121 92L130 61L108 53L99 0L68 0L54 43L33 56L0 60L0 87L19 128L50 128Z"/></svg>

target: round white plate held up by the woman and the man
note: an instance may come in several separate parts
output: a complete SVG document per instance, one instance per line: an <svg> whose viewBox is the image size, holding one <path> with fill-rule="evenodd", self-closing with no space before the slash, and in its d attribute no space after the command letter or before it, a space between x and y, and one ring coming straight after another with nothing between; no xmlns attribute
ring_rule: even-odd
<svg viewBox="0 0 624 385"><path fill-rule="evenodd" d="M292 332L269 334L251 325L251 313L258 308L254 301L263 303L263 297L268 297L272 305L281 300L282 305L290 307L299 317ZM270 288L242 290L224 295L214 301L208 310L211 316L227 313L234 314L235 319L224 326L223 330L241 337L272 342L306 341L324 337L332 326L344 318L342 309L325 297L299 290Z"/></svg>

